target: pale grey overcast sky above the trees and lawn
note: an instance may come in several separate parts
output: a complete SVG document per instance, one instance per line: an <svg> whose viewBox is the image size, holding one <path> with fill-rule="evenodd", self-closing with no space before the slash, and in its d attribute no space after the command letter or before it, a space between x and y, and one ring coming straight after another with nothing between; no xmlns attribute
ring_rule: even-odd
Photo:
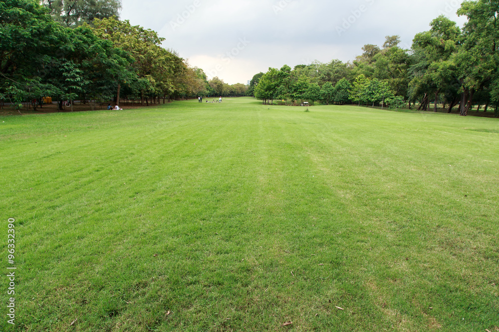
<svg viewBox="0 0 499 332"><path fill-rule="evenodd" d="M354 60L365 44L414 35L461 0L122 0L121 19L153 29L209 78L247 84L268 67Z"/></svg>

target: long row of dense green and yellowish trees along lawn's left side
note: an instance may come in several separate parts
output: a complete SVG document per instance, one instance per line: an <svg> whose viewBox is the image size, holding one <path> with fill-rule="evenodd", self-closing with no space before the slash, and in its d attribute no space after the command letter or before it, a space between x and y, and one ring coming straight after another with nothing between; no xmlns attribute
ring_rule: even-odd
<svg viewBox="0 0 499 332"><path fill-rule="evenodd" d="M156 31L118 19L119 0L0 2L0 105L42 97L141 105L196 96L244 96L243 85L208 80ZM71 103L72 105L72 103Z"/></svg>

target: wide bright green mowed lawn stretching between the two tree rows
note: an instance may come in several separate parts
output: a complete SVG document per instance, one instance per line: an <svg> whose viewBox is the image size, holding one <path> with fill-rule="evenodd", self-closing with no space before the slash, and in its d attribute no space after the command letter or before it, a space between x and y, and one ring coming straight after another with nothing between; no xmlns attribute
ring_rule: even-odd
<svg viewBox="0 0 499 332"><path fill-rule="evenodd" d="M499 331L499 120L309 110L0 117L1 331Z"/></svg>

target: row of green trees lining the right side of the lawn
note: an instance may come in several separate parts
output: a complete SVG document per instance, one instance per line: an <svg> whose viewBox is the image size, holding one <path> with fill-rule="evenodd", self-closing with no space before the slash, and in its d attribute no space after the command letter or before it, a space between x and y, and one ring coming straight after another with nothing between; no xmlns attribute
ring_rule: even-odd
<svg viewBox="0 0 499 332"><path fill-rule="evenodd" d="M430 110L442 104L467 115L499 113L499 2L464 1L460 28L441 15L418 33L411 49L399 47L399 36L387 36L382 47L367 44L352 62L333 60L269 68L253 76L248 95L272 103L296 105L304 100L328 105L358 104Z"/></svg>

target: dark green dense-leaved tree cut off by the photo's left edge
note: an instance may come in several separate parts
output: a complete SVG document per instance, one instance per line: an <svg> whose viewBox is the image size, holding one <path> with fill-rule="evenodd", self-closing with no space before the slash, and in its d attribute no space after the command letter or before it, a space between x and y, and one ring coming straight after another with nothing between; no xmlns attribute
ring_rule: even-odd
<svg viewBox="0 0 499 332"><path fill-rule="evenodd" d="M46 77L68 48L67 31L34 0L0 2L0 93L20 102L48 95Z"/></svg>

